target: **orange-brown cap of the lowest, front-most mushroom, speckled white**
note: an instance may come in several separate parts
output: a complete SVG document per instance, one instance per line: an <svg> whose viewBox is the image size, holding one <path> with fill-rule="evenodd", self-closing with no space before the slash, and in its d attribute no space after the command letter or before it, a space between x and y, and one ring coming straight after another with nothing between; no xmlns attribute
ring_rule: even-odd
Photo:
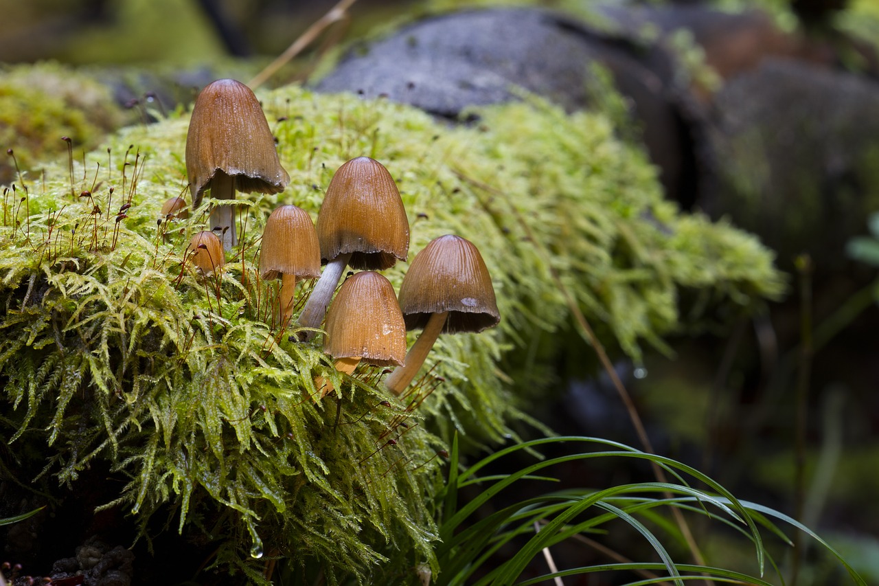
<svg viewBox="0 0 879 586"><path fill-rule="evenodd" d="M377 366L406 358L406 325L394 286L372 271L348 277L327 312L323 351L333 358L361 356Z"/></svg>

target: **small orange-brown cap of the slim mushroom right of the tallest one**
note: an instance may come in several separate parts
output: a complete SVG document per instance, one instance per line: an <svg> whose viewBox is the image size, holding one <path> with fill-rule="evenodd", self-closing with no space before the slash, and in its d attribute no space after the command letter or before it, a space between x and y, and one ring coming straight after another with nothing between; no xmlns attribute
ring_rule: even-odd
<svg viewBox="0 0 879 586"><path fill-rule="evenodd" d="M259 248L259 275L314 278L321 275L321 250L311 216L304 209L284 205L272 210L265 221Z"/></svg>

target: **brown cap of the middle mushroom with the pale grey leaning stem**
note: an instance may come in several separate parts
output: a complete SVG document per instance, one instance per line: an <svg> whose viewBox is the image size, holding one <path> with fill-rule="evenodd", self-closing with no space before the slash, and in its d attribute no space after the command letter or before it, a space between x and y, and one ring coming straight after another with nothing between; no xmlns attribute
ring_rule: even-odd
<svg viewBox="0 0 879 586"><path fill-rule="evenodd" d="M333 175L317 214L321 261L352 253L348 266L393 267L409 253L409 220L394 178L378 161L352 158Z"/></svg>

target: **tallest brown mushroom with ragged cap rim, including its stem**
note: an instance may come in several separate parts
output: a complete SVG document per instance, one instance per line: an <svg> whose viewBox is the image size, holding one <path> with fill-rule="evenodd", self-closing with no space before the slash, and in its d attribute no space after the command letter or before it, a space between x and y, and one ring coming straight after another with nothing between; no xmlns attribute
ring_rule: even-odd
<svg viewBox="0 0 879 586"><path fill-rule="evenodd" d="M195 99L186 135L186 174L193 192L193 209L209 189L217 200L234 200L236 190L278 194L290 181L280 165L274 137L257 97L234 79L207 84ZM238 238L235 205L211 210L211 230L222 228L223 248Z"/></svg>

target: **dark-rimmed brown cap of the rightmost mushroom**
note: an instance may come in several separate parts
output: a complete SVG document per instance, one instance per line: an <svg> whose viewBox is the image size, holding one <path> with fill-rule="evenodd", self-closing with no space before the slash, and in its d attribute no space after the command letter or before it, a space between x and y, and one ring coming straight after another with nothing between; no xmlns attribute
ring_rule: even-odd
<svg viewBox="0 0 879 586"><path fill-rule="evenodd" d="M432 313L448 311L443 333L482 332L500 321L489 269L460 236L434 238L415 255L400 285L406 328L420 329Z"/></svg>

